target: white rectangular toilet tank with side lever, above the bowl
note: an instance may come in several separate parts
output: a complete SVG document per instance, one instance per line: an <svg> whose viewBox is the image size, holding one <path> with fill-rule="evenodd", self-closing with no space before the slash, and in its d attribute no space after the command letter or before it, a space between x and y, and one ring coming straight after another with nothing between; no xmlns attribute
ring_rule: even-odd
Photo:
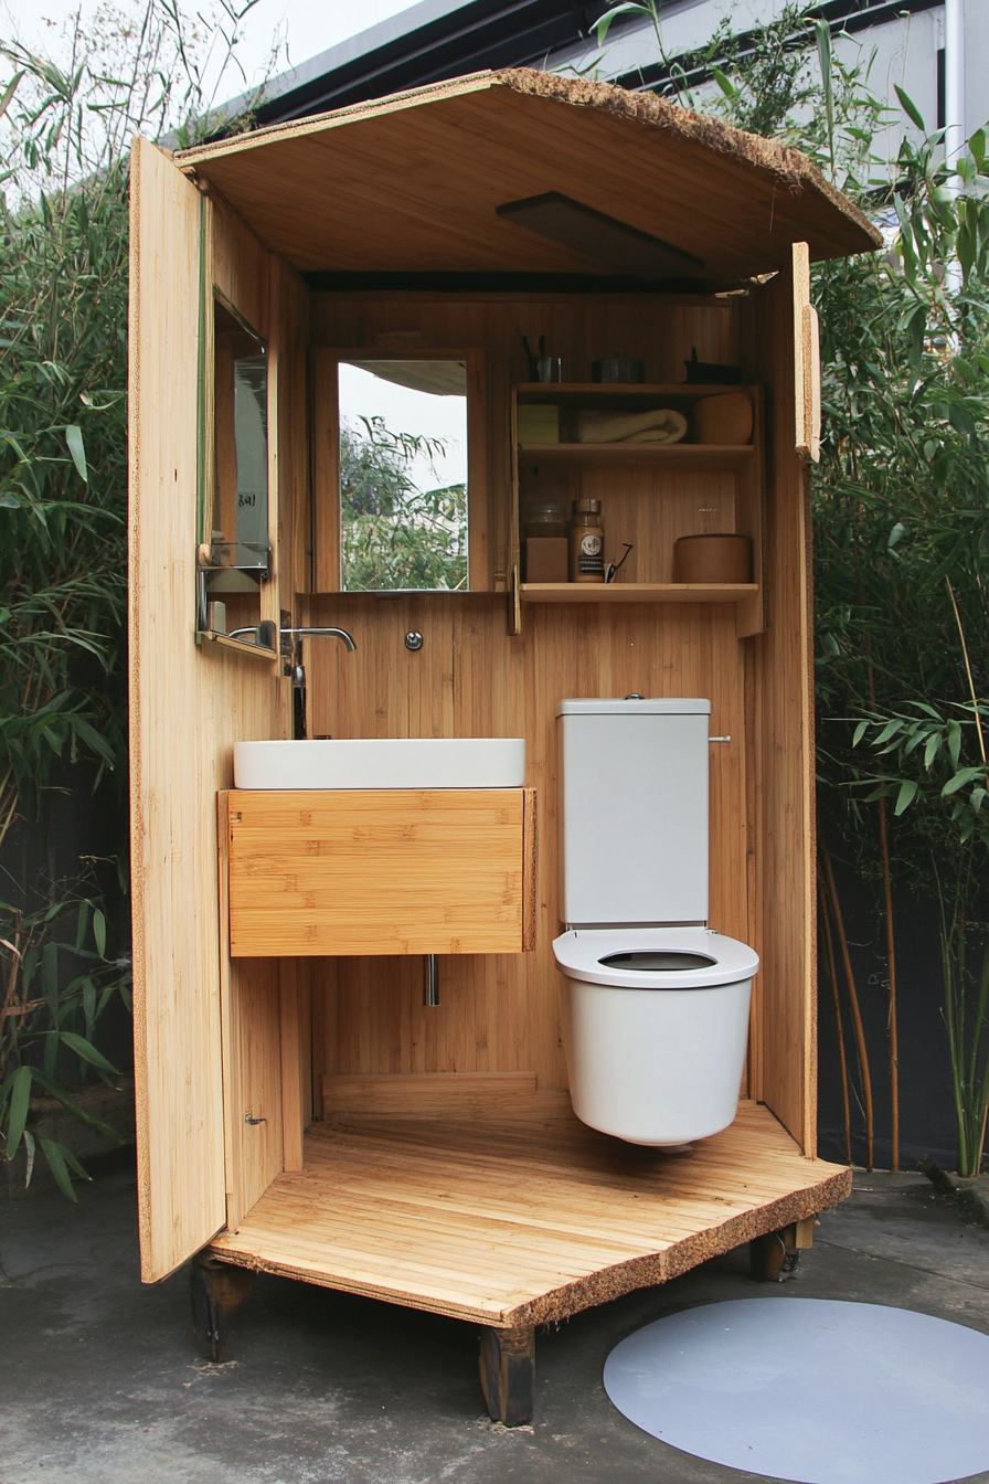
<svg viewBox="0 0 989 1484"><path fill-rule="evenodd" d="M710 702L560 700L560 919L707 922Z"/></svg>

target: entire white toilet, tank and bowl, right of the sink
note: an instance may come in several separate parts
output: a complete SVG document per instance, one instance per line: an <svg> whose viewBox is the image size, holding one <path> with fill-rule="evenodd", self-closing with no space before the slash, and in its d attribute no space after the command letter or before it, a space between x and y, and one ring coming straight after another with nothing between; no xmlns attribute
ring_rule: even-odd
<svg viewBox="0 0 989 1484"><path fill-rule="evenodd" d="M727 1128L753 948L707 923L710 702L560 700L560 917L574 1113L632 1144Z"/></svg>

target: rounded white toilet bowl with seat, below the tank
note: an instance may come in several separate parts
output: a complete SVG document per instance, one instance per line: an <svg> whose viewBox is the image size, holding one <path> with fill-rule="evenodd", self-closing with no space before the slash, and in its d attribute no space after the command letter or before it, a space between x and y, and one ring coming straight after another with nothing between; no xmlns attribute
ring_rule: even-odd
<svg viewBox="0 0 989 1484"><path fill-rule="evenodd" d="M568 981L574 1113L630 1144L676 1147L738 1104L758 954L707 928L577 929L553 942Z"/></svg>

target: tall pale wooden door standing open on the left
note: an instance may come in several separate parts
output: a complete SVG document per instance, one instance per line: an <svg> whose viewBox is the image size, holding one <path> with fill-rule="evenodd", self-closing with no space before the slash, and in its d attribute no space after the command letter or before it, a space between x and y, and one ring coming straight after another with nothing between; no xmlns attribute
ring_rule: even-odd
<svg viewBox="0 0 989 1484"><path fill-rule="evenodd" d="M291 735L291 690L273 659L196 643L212 208L144 139L130 191L133 1011L141 1258L151 1282L227 1218L215 798L231 784L233 742ZM270 301L274 260L259 245L254 260ZM270 335L270 325L259 329ZM277 613L277 589L267 601ZM277 1141L280 1158L280 1132Z"/></svg>

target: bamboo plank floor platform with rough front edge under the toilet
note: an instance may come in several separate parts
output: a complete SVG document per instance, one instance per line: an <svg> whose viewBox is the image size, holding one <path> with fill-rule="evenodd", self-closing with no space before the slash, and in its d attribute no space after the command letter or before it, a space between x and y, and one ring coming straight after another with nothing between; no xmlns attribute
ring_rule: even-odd
<svg viewBox="0 0 989 1484"><path fill-rule="evenodd" d="M541 1324L666 1282L838 1205L842 1165L804 1159L741 1103L692 1155L621 1144L572 1114L338 1114L305 1135L225 1261L495 1327Z"/></svg>

